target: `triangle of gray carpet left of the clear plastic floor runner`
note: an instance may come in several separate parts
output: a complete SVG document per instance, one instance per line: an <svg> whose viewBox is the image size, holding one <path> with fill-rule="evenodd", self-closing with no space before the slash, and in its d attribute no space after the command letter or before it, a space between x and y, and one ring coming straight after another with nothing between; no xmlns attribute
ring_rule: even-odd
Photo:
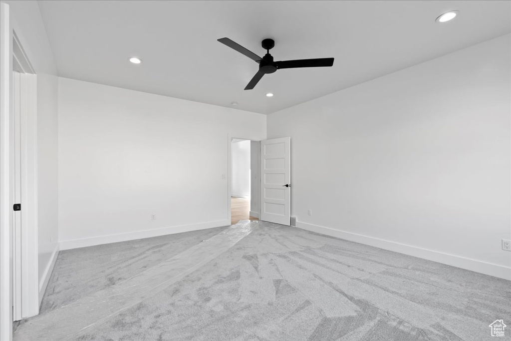
<svg viewBox="0 0 511 341"><path fill-rule="evenodd" d="M40 312L48 312L124 281L224 229L192 231L61 251L44 293Z"/></svg>

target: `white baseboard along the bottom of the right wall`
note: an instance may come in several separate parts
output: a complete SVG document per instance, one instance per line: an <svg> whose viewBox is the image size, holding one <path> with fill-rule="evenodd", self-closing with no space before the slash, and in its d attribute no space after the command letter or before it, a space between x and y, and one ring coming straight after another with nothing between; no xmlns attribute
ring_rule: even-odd
<svg viewBox="0 0 511 341"><path fill-rule="evenodd" d="M401 244L374 237L368 237L356 233L340 231L332 228L327 228L325 226L319 226L300 221L296 222L296 227L307 231L317 232L327 236L337 237L361 244L376 246L379 248L386 249L388 251L398 252L413 257L427 259L433 262L456 266L462 269L480 272L481 274L484 275L490 275L511 281L511 267L486 263L471 258L445 254L442 252L433 251L426 248Z"/></svg>

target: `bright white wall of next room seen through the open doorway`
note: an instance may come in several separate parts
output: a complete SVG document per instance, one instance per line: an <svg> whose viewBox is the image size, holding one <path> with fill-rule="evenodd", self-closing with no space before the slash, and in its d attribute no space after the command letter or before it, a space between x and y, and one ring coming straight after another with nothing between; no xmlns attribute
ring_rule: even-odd
<svg viewBox="0 0 511 341"><path fill-rule="evenodd" d="M250 140L233 141L231 145L231 196L250 198Z"/></svg>

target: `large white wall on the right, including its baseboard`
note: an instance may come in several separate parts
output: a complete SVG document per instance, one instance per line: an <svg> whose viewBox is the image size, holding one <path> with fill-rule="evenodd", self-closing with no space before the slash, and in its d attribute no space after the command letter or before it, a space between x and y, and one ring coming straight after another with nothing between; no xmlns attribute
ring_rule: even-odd
<svg viewBox="0 0 511 341"><path fill-rule="evenodd" d="M505 35L269 115L299 226L511 279L510 61Z"/></svg>

